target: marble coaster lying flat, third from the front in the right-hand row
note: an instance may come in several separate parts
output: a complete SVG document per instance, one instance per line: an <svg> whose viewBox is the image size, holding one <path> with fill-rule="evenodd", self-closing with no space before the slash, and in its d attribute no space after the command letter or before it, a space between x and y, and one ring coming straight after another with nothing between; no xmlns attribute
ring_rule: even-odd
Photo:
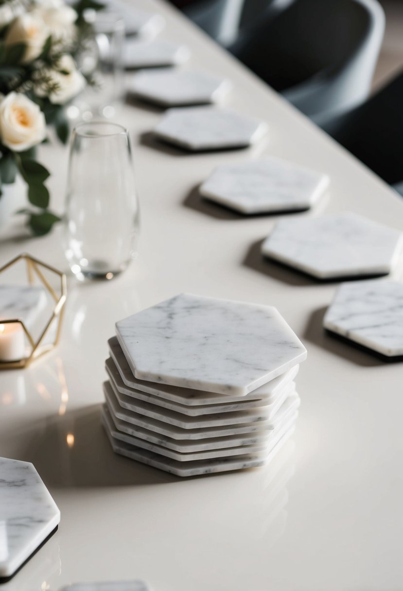
<svg viewBox="0 0 403 591"><path fill-rule="evenodd" d="M329 184L329 177L280 158L217 167L200 193L245 214L309 209Z"/></svg>

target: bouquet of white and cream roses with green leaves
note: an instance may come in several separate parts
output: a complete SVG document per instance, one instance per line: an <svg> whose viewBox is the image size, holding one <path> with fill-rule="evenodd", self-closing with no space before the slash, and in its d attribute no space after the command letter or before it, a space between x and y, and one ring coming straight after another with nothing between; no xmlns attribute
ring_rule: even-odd
<svg viewBox="0 0 403 591"><path fill-rule="evenodd" d="M60 218L49 209L49 173L35 158L47 125L66 142L64 105L87 81L74 58L89 34L84 13L95 0L0 0L0 190L19 174L28 186L27 225L35 235ZM1 199L1 196L0 196Z"/></svg>

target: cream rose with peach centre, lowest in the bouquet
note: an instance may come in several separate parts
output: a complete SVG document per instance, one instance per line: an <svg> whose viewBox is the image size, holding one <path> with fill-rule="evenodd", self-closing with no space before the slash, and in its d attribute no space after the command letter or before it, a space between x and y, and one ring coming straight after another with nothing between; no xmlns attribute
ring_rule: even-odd
<svg viewBox="0 0 403 591"><path fill-rule="evenodd" d="M46 135L45 116L27 96L11 92L0 102L0 139L14 152L39 144Z"/></svg>

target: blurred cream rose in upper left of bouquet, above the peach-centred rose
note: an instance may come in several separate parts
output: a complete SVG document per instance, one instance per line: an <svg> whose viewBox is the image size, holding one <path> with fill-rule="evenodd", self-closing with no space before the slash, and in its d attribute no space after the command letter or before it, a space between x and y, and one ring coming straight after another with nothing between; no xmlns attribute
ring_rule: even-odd
<svg viewBox="0 0 403 591"><path fill-rule="evenodd" d="M22 63L27 63L41 54L49 35L50 30L39 15L34 12L25 12L12 23L6 34L5 44L25 43L27 49Z"/></svg>

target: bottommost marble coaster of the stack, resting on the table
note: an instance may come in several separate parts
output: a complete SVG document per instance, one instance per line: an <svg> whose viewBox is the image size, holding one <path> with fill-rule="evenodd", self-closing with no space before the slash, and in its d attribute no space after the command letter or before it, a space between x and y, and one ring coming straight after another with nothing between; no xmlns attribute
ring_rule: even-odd
<svg viewBox="0 0 403 591"><path fill-rule="evenodd" d="M119 453L122 456L129 457L160 470L164 470L165 472L170 472L176 476L197 476L264 466L272 459L272 457L274 457L274 454L281 449L281 444L293 434L295 423L295 420L292 423L290 421L290 426L287 425L282 430L279 429L267 449L262 452L244 454L241 456L193 460L193 462L178 462L178 460L173 460L161 456L158 453L151 452L150 450L141 449L130 443L126 443L126 441L115 439L115 437L112 436L113 421L111 415L108 412L103 413L102 420L106 434L108 435L112 449L115 453Z"/></svg>

